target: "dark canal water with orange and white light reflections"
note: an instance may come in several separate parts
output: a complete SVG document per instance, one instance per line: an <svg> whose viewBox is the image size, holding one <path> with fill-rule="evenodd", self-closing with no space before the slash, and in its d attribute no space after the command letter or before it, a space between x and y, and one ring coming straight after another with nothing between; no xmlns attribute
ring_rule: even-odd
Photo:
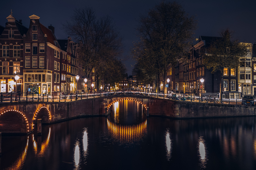
<svg viewBox="0 0 256 170"><path fill-rule="evenodd" d="M45 125L41 136L2 136L0 169L256 169L254 117L146 118L142 107L120 101L108 118Z"/></svg>

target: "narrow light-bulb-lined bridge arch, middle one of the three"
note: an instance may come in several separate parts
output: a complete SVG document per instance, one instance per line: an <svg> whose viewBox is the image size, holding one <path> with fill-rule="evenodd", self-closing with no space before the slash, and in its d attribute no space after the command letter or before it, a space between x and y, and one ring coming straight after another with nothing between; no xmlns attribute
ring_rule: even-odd
<svg viewBox="0 0 256 170"><path fill-rule="evenodd" d="M32 129L34 129L34 125L37 123L37 119L42 119L42 123L50 123L51 122L51 114L47 107L40 107L33 117Z"/></svg>

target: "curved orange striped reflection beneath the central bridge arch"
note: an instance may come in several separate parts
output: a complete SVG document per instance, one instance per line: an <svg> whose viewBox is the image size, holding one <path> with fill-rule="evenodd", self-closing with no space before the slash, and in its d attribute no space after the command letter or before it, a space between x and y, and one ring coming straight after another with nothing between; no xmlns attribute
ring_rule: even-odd
<svg viewBox="0 0 256 170"><path fill-rule="evenodd" d="M112 137L123 142L140 140L147 133L147 120L138 125L117 125L107 119L108 130Z"/></svg>

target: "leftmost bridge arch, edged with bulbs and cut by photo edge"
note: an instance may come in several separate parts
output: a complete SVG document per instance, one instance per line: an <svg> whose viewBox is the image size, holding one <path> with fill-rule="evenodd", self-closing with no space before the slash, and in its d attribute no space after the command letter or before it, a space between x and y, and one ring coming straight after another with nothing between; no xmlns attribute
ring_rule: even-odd
<svg viewBox="0 0 256 170"><path fill-rule="evenodd" d="M28 133L29 125L26 115L13 109L2 112L0 130L6 133Z"/></svg>

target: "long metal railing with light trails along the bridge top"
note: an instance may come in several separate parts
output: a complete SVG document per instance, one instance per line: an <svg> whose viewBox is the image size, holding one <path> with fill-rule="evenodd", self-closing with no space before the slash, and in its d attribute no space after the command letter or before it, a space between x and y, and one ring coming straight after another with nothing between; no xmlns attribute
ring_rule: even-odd
<svg viewBox="0 0 256 170"><path fill-rule="evenodd" d="M8 93L0 94L0 102L65 102L74 100L83 100L88 98L106 97L106 96L147 96L153 98L163 98L166 100L182 100L187 102L205 102L220 104L242 104L241 99L220 99L213 97L200 97L184 94L164 94L158 92L141 91L141 90L119 90L119 91L102 91L94 93L80 93L72 95L49 95L49 94L29 94L29 93Z"/></svg>

